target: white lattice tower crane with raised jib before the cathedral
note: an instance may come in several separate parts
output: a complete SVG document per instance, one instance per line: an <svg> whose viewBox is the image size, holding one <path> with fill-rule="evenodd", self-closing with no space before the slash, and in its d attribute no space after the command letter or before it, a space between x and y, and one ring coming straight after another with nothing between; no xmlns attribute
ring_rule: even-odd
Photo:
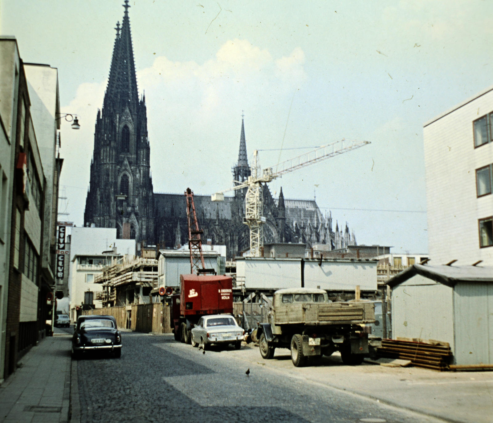
<svg viewBox="0 0 493 423"><path fill-rule="evenodd" d="M258 150L254 150L253 161L251 164L251 176L248 176L248 179L245 182L233 181L233 183L237 185L212 194L211 200L223 201L224 193L248 188L245 196L245 217L243 218L243 223L250 228L250 256L260 257L261 249L264 246L263 225L266 222L266 219L263 216L262 183L271 182L285 173L347 153L367 144L370 144L370 141L346 140L343 138L340 141L323 145L309 153L279 163L275 166L275 170L274 166L261 169L258 160Z"/></svg>

